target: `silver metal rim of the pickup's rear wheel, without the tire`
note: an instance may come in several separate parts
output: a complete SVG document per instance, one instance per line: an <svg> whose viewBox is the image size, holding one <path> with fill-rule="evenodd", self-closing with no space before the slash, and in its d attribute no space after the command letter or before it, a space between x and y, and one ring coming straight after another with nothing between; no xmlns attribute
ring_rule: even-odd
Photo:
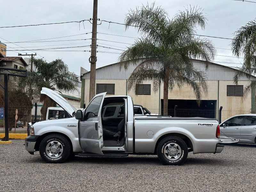
<svg viewBox="0 0 256 192"><path fill-rule="evenodd" d="M172 161L175 161L181 156L181 148L177 143L169 143L164 147L164 156Z"/></svg>

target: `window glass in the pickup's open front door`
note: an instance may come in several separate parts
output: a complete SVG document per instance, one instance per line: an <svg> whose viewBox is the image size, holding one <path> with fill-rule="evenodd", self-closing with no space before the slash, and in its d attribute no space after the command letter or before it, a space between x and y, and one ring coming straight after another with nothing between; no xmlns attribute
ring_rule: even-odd
<svg viewBox="0 0 256 192"><path fill-rule="evenodd" d="M92 102L87 106L87 108L84 110L84 120L98 116L102 98L103 96L94 98Z"/></svg>

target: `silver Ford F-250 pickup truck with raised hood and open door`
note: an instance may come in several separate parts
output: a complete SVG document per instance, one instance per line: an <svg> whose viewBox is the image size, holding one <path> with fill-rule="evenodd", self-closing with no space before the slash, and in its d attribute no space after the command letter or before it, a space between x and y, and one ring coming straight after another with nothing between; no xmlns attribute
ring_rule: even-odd
<svg viewBox="0 0 256 192"><path fill-rule="evenodd" d="M41 94L49 96L70 116L36 122L28 127L25 149L32 155L39 151L42 159L49 163L62 163L74 155L147 154L157 155L162 164L181 165L188 152L220 153L222 143L237 142L220 139L216 119L134 116L130 96L105 97L106 93L100 93L87 108L76 110L51 89L43 88ZM122 106L117 116L113 115L115 106Z"/></svg>

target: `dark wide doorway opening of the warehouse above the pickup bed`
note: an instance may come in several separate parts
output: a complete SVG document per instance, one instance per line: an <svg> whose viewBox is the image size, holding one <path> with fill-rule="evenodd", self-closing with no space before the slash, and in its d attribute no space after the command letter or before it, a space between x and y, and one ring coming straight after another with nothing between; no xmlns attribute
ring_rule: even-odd
<svg viewBox="0 0 256 192"><path fill-rule="evenodd" d="M168 100L168 115L174 116L174 107L177 105L177 117L204 117L216 118L216 100L201 100L198 106L196 100ZM161 99L161 115L163 115L164 100Z"/></svg>

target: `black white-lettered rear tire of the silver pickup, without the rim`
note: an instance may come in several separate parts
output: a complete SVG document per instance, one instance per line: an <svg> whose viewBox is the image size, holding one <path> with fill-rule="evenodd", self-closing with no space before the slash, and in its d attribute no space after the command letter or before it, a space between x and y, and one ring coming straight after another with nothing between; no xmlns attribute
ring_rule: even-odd
<svg viewBox="0 0 256 192"><path fill-rule="evenodd" d="M178 159L168 159L164 154L164 149L167 147L170 143L176 143L178 144L179 148L181 149L181 153L179 155ZM180 137L176 136L168 136L163 138L157 146L157 156L162 164L164 165L182 165L187 157L188 157L188 146L185 143L184 140L182 140Z"/></svg>

